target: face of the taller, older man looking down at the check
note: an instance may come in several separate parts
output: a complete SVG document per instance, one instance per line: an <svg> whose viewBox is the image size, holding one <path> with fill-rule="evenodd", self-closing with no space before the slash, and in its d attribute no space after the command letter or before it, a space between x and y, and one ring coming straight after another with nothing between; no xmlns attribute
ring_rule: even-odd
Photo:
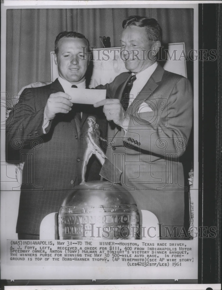
<svg viewBox="0 0 222 290"><path fill-rule="evenodd" d="M151 66L156 61L158 46L160 41L149 41L145 27L127 26L121 37L122 59L126 69L139 73Z"/></svg>

